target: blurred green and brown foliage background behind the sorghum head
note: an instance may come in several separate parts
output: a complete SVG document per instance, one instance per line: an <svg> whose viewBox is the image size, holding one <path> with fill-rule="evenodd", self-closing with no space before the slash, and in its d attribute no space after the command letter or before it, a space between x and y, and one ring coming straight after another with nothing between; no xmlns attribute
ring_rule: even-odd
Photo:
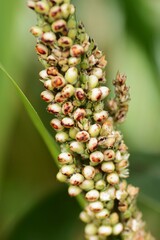
<svg viewBox="0 0 160 240"><path fill-rule="evenodd" d="M108 84L117 70L128 76L130 111L122 127L131 152L130 182L141 188L139 206L160 239L160 1L74 0L108 59ZM42 69L29 28L26 1L0 0L0 61L49 127L39 97ZM82 240L80 207L56 181L57 168L17 93L0 73L0 239Z"/></svg>

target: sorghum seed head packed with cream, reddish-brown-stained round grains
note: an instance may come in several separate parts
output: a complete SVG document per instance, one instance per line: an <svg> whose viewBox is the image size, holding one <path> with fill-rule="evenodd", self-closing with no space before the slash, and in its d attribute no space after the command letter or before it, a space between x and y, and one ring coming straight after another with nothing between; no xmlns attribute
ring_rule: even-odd
<svg viewBox="0 0 160 240"><path fill-rule="evenodd" d="M57 179L70 196L82 194L80 219L88 240L151 240L137 209L138 188L128 185L129 153L116 124L126 118L129 88L117 73L115 97L106 86L107 61L78 23L70 0L29 0L37 14L31 33L44 66L41 97L61 146Z"/></svg>

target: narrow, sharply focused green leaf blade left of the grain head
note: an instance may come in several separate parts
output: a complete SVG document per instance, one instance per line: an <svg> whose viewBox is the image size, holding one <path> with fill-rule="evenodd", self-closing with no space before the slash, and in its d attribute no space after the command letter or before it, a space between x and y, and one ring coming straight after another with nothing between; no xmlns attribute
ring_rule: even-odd
<svg viewBox="0 0 160 240"><path fill-rule="evenodd" d="M55 142L55 140L52 138L52 136L49 134L47 129L45 128L44 124L42 123L40 117L38 116L37 112L35 111L34 107L30 103L30 101L27 99L25 94L22 92L20 87L17 85L15 80L10 76L10 74L5 70L5 68L0 64L0 70L7 75L10 82L15 87L18 96L20 97L29 117L31 118L34 126L38 130L39 134L41 135L43 141L45 142L46 146L48 147L55 163L58 165L57 156L59 153L59 148Z"/></svg>

